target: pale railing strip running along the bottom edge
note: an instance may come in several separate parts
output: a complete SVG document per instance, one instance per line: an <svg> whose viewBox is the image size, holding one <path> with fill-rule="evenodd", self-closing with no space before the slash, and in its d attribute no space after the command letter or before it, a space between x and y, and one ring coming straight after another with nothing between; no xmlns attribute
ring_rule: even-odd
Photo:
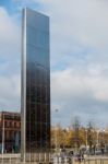
<svg viewBox="0 0 108 164"><path fill-rule="evenodd" d="M19 155L0 155L0 164L108 164L108 157L86 157L84 160L70 157L70 156L55 156L53 154L38 154L35 161L21 162L21 156Z"/></svg>

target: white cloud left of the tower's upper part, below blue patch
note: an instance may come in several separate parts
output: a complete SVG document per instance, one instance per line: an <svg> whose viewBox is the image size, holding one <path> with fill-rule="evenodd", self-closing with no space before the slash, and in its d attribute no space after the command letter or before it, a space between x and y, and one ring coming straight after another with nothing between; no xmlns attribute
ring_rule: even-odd
<svg viewBox="0 0 108 164"><path fill-rule="evenodd" d="M0 58L16 58L20 52L20 34L14 17L4 8L0 8Z"/></svg>

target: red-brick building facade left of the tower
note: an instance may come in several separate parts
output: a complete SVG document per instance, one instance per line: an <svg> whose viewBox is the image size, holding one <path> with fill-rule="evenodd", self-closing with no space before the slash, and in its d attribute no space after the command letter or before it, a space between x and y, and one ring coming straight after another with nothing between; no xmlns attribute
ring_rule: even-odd
<svg viewBox="0 0 108 164"><path fill-rule="evenodd" d="M21 114L0 113L0 153L20 153Z"/></svg>

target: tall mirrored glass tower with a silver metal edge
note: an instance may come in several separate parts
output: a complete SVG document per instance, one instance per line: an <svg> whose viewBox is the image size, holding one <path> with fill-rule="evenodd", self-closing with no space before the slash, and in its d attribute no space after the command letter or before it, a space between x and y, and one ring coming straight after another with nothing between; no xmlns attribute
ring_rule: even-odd
<svg viewBox="0 0 108 164"><path fill-rule="evenodd" d="M49 17L29 9L22 21L22 138L23 161L50 148Z"/></svg>

